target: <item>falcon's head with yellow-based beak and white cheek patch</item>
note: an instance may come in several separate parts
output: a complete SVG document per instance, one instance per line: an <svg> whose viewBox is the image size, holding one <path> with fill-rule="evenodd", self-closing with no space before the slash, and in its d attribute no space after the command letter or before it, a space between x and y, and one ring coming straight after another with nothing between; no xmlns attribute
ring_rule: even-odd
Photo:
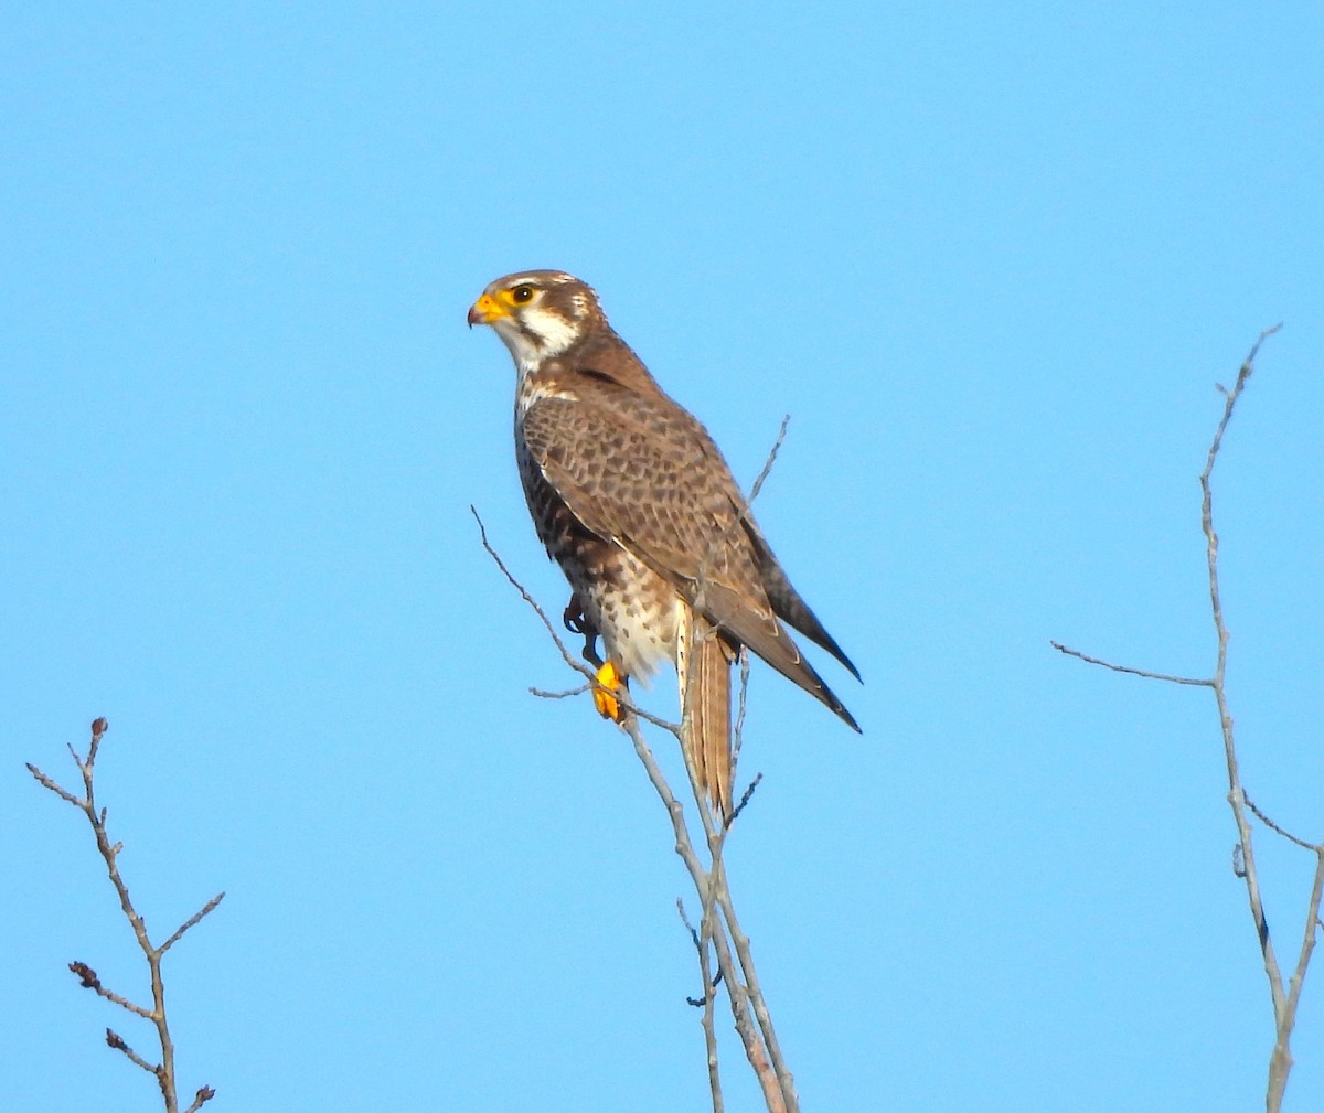
<svg viewBox="0 0 1324 1113"><path fill-rule="evenodd" d="M469 326L495 328L522 367L561 355L596 323L606 323L597 294L559 270L498 278L469 310Z"/></svg>

